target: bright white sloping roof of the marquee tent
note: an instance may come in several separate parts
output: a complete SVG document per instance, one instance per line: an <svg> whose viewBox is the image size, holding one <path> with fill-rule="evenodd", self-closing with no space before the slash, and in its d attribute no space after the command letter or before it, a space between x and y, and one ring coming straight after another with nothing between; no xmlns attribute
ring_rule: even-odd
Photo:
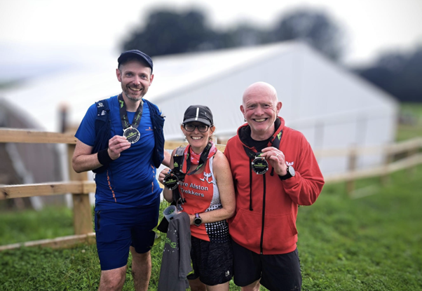
<svg viewBox="0 0 422 291"><path fill-rule="evenodd" d="M304 44L283 42L154 57L154 81L146 97L152 102L162 104L175 96L189 92L192 88L227 78L236 72L243 72L261 62L271 61L275 56L293 55L298 51L313 53ZM121 92L121 86L114 72L116 67L116 60L107 59L101 63L87 64L86 67L53 76L40 76L22 83L19 88L1 91L0 98L5 98L13 108L20 111L22 116L32 116L39 128L57 131L60 126L58 124L60 107L67 104L70 110L69 122L78 125L91 104ZM355 76L352 78L358 80ZM360 86L370 87L370 90L376 91L376 95L387 96L364 81L356 82L360 83Z"/></svg>

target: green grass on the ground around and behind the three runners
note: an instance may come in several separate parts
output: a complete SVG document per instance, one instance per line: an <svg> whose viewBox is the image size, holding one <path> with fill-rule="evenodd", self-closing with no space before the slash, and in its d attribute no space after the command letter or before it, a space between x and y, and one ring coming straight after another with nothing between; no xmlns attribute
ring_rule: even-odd
<svg viewBox="0 0 422 291"><path fill-rule="evenodd" d="M376 179L360 180L357 187L369 187L370 194L362 198L347 196L343 183L330 184L314 205L300 207L297 226L303 290L422 290L420 177L422 166L414 175L407 171L393 174L388 187L381 187ZM54 217L50 220L60 220L57 217L64 213L48 211ZM4 217L10 223L11 215L1 214L0 225L5 224ZM34 214L28 217L36 220ZM25 231L19 224L32 222L24 220L15 226ZM47 227L54 226L34 223L32 230ZM0 236L5 235L9 236L1 231ZM159 242L152 251L150 290L158 284L162 250ZM123 290L133 290L130 262L129 258ZM99 279L95 245L0 252L0 290L95 290ZM230 290L240 288L231 282Z"/></svg>

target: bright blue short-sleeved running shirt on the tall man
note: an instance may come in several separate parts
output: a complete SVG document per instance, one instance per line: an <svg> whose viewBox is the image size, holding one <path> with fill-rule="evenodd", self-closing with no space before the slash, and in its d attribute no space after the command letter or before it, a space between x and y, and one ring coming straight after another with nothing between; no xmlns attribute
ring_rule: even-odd
<svg viewBox="0 0 422 291"><path fill-rule="evenodd" d="M117 96L108 100L111 119L111 137L123 135ZM95 142L95 116L97 107L90 106L76 131L76 137L84 144L93 147ZM128 111L130 123L135 112ZM159 198L161 188L156 180L156 168L152 161L154 131L152 129L149 106L144 102L142 119L137 128L139 140L121 156L112 161L105 172L95 176L95 210L130 208L149 205Z"/></svg>

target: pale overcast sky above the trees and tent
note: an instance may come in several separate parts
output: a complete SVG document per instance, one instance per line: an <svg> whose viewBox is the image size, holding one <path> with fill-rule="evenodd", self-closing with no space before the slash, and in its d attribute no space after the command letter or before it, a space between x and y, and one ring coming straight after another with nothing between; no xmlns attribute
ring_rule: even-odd
<svg viewBox="0 0 422 291"><path fill-rule="evenodd" d="M142 25L151 9L183 11L192 5L203 8L210 24L219 28L242 21L268 27L294 8L322 9L346 32L346 64L367 62L381 51L422 45L422 0L4 0L0 2L0 65L54 58L48 47L65 46L66 53L56 57L81 48L87 49L87 55L93 55L93 49L99 57L116 55L118 43Z"/></svg>

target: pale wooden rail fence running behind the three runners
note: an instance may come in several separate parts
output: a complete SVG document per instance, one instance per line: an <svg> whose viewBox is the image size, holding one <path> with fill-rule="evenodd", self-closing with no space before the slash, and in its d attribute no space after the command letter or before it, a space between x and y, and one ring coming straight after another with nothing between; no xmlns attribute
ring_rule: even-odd
<svg viewBox="0 0 422 291"><path fill-rule="evenodd" d="M74 236L55 238L36 242L18 243L13 245L0 246L1 250L19 248L22 245L45 245L50 247L64 247L81 242L92 242L93 237L93 216L89 202L89 193L95 192L95 183L88 181L86 172L76 173L72 168L72 155L76 145L76 138L73 133L46 133L35 130L0 129L0 142L22 142L22 143L62 143L67 144L67 155L69 161L69 182L51 182L41 184L25 185L0 185L0 200L18 197L49 196L57 194L72 194L74 204ZM181 145L180 142L165 142L165 149L175 149ZM224 145L217 145L224 151ZM327 156L347 156L348 172L339 175L325 177L326 182L346 181L348 192L353 191L354 182L365 177L381 177L382 182L388 181L391 172L404 168L414 168L422 163L422 138L416 138L407 142L400 142L384 147L353 147L350 149L327 149L315 151L317 158ZM383 165L377 168L357 170L356 161L358 156L365 154L380 154L386 156ZM397 154L405 153L405 157L395 161Z"/></svg>

